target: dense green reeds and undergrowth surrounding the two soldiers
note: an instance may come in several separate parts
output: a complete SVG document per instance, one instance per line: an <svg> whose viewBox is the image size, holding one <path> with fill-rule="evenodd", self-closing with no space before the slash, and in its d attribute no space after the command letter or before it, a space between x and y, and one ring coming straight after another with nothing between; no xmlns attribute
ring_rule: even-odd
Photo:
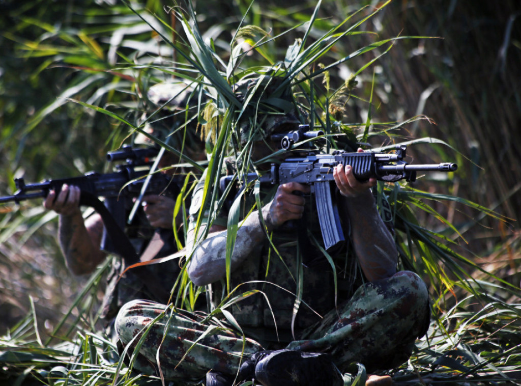
<svg viewBox="0 0 521 386"><path fill-rule="evenodd" d="M370 1L323 1L318 8L314 2L196 2L206 43L200 46L188 7L175 8L176 18L166 12L171 6L159 0L0 3L1 194L12 194L13 177L34 182L107 170L104 153L129 142L143 113L157 109L146 97L156 83L173 76L201 82L204 72L226 100L221 82L237 54L232 46L241 54L233 67L240 78L244 68L261 71L282 61L295 39L306 37L305 49L317 44L324 53L319 61L311 51L300 57L303 71L317 74L306 83L314 93L306 108L316 119L324 101L356 74L337 117L345 132L374 148L411 141L415 162L460 165L457 173L426 175L414 186L382 187L400 195L398 246L404 265L429 282L435 317L429 339L394 379L501 384L521 378L517 2L394 0L379 11L383 4ZM248 25L262 30L239 29ZM245 55L241 50L264 31L263 44ZM320 42L328 33L342 37L326 49ZM118 367L96 324L104 267L92 278L68 273L56 215L41 200L1 207L0 224L2 377L132 383L135 375Z"/></svg>

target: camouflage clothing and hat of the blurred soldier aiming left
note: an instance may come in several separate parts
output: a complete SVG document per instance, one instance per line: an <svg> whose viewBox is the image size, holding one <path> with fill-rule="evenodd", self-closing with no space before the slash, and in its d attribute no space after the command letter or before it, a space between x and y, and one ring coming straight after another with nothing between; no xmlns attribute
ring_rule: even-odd
<svg viewBox="0 0 521 386"><path fill-rule="evenodd" d="M181 137L181 139L179 139L177 137L172 138L170 134L172 131L175 131L175 128L178 127L181 122L184 123L185 116L184 114L179 114L179 112L183 113L187 105L193 107L196 98L193 97L192 93L193 88L180 80L169 83L157 83L151 86L146 93L147 99L154 106L154 110L158 107L162 107L162 110L156 114L153 123L147 123L145 125L144 131L162 140L169 138L170 146L181 148L182 141L185 139L183 135L178 133L177 136ZM193 114L193 112L191 114ZM146 113L143 114L142 119L144 120L146 116ZM158 117L161 118L158 119ZM185 143L194 147L194 149L191 149L191 152L197 152L197 154L202 153L204 155L205 152L202 150L204 146L195 136L195 125L191 124L187 128L187 130L183 131L184 135L190 136L190 140L186 140ZM181 142L178 143L178 140L181 140ZM138 134L134 138L134 144L155 146L155 143L151 139L142 134ZM171 157L171 154L163 154L164 159L168 157ZM177 159L172 163L177 163ZM165 194L176 199L184 183L184 178L183 172L178 176L173 176L172 182ZM133 203L128 202L127 204L127 213L130 213ZM189 206L190 201L185 201L185 204ZM150 223L148 223L146 215L141 208L138 210L137 216L132 224L126 226L125 232L142 261L143 253L148 244L155 237L160 239L162 246L160 246L160 249L156 248L155 252L153 252L152 255L149 254L145 260L169 256L178 251L173 231L164 228L154 229ZM179 237L183 239L182 234L180 234ZM125 261L115 257L112 262L111 271L107 277L107 289L102 303L101 317L105 320L109 329L118 310L123 304L130 300L148 299L166 303L169 298L170 289L181 271L179 261L171 260L161 264L151 264L145 267L133 268L120 278L125 268ZM138 270L141 271L139 275L135 274ZM161 294L152 291L146 285L146 282L151 281L154 282L154 285L164 288L165 291Z"/></svg>

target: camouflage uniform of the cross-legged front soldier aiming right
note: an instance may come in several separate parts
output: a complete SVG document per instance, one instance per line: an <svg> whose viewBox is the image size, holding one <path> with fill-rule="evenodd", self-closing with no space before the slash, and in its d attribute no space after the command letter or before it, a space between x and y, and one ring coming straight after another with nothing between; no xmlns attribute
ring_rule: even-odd
<svg viewBox="0 0 521 386"><path fill-rule="evenodd" d="M201 189L202 183L194 191L192 207L197 207ZM267 195L263 202L269 201L272 192ZM194 209L199 208L192 208L192 214ZM428 326L425 283L412 272L364 283L348 245L331 254L331 261L324 257L311 202L306 213L304 232L292 223L284 224L271 235L275 249L266 240L258 253L231 273L231 288L250 282L242 284L240 292L259 291L229 310L244 335L227 324L226 329L223 325L210 329L222 321L136 300L123 306L116 319L121 341L128 344L150 327L140 349L141 359L156 367L159 349L161 369L171 380L199 380L210 369L234 374L244 360L241 354L285 347L330 353L342 371L353 361L363 363L369 371L403 363ZM226 224L226 213L219 221ZM221 283L208 286L208 291L212 306L217 307L224 292ZM165 315L151 325L163 311ZM145 369L142 364L137 367L152 373L152 366Z"/></svg>

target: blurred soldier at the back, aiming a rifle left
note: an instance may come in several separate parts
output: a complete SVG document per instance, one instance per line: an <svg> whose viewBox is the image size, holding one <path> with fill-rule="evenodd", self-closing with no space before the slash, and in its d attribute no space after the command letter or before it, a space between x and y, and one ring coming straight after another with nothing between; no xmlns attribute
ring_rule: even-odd
<svg viewBox="0 0 521 386"><path fill-rule="evenodd" d="M184 122L185 105L190 96L190 90L180 83L159 84L151 87L147 93L148 98L155 104L155 108L163 107L163 110L155 116L153 123L145 127L145 131L161 140L165 140L167 135L175 131L180 126L179 117L182 117ZM177 117L175 116L176 111L181 112ZM190 112L190 115L193 115L193 112ZM158 117L160 118L158 119ZM195 126L191 124L187 127L193 131L192 136L195 137ZM150 138L142 134L137 136L134 143L155 146ZM191 144L191 147L185 148L185 153L188 152L188 155L194 160L205 159L202 142L192 141ZM172 146L181 148L179 143L172 143ZM172 226L175 223L178 232L182 232L183 215L180 211L174 222L173 213L185 172L180 168L171 168L170 165L179 162L179 156L168 151L164 152L157 168L171 178L168 189L164 192L157 192L157 194L145 195L134 221L126 226L126 234L140 256L140 261L169 256L178 250ZM102 216L94 213L86 220L83 219L79 207L80 194L79 187L64 185L59 192L50 191L44 201L46 209L59 213L60 247L69 270L75 275L92 273L98 264L106 259L107 255L115 252L102 248L104 232ZM133 203L128 202L128 204L127 214ZM180 237L183 238L182 234ZM107 246L107 248L110 247ZM101 318L110 335L114 335L114 318L123 304L132 299L168 302L170 289L180 272L177 260L135 268L120 278L125 268L125 259L114 259L112 270L107 278ZM138 270L139 272L137 272Z"/></svg>

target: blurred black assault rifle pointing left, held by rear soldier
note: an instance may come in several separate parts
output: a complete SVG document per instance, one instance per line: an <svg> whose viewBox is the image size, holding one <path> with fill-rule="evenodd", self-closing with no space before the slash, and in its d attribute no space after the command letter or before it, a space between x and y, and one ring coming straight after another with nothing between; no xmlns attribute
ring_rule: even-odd
<svg viewBox="0 0 521 386"><path fill-rule="evenodd" d="M102 249L120 255L130 265L137 262L139 257L123 230L129 204L142 192L145 177L150 175L146 185L147 194L169 191L171 195L175 195L175 189L178 189L177 184L172 183L163 173L150 174L151 160L157 154L158 150L154 148L134 149L123 146L121 150L107 153L108 161L126 161L116 165L113 173L90 172L80 177L46 180L35 184L26 184L23 178L15 178L18 190L13 196L0 197L0 203L45 198L50 190L59 192L64 184L78 186L81 190L80 205L93 207L102 216L105 225ZM99 197L105 198L104 203Z"/></svg>

